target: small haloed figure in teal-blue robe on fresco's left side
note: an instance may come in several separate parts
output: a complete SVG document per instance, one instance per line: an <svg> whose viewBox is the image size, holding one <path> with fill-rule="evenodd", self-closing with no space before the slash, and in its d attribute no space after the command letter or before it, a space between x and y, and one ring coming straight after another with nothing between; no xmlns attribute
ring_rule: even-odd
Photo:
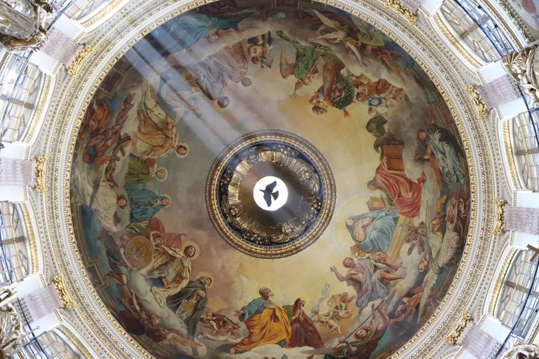
<svg viewBox="0 0 539 359"><path fill-rule="evenodd" d="M131 222L149 220L156 213L170 204L170 199L166 196L157 195L147 188L142 190L128 190L128 198L131 206Z"/></svg>

